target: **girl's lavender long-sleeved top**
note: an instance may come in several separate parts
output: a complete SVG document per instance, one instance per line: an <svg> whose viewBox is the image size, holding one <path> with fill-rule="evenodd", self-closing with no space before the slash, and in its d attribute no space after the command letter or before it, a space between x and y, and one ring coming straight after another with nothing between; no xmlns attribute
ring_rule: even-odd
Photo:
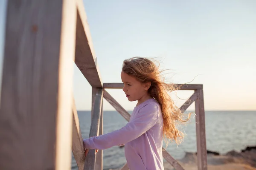
<svg viewBox="0 0 256 170"><path fill-rule="evenodd" d="M134 108L126 126L83 141L87 149L107 149L125 144L125 158L130 170L164 170L162 137L160 105L155 99L148 99Z"/></svg>

